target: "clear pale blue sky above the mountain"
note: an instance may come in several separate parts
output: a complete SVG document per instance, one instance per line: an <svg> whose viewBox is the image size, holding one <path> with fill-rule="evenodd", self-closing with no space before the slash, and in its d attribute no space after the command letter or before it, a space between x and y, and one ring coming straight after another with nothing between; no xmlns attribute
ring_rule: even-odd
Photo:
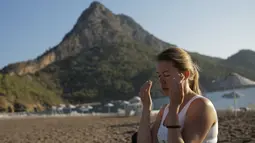
<svg viewBox="0 0 255 143"><path fill-rule="evenodd" d="M227 58L255 51L255 0L98 0L154 36L189 51ZM0 68L34 59L71 30L92 0L1 0Z"/></svg>

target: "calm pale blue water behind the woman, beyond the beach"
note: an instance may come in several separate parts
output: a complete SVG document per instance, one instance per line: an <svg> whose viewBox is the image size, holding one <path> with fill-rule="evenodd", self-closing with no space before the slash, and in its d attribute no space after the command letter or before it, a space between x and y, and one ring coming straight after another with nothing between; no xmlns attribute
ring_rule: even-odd
<svg viewBox="0 0 255 143"><path fill-rule="evenodd" d="M220 91L220 92L211 92L207 93L206 97L209 98L216 109L229 109L233 108L234 106L234 99L227 99L223 98L222 95L225 93L232 92L233 90L226 90L226 91ZM240 98L236 99L236 107L249 107L253 104L253 107L255 105L255 87L246 88L246 89L235 89L234 91L244 95ZM154 110L160 109L160 107L164 104L169 103L168 97L162 97L159 99L153 100L153 107Z"/></svg>

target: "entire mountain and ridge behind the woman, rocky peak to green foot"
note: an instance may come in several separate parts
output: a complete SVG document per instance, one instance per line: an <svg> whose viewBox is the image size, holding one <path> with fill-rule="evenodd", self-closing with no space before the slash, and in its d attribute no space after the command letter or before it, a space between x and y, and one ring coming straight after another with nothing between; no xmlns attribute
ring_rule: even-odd
<svg viewBox="0 0 255 143"><path fill-rule="evenodd" d="M1 70L0 110L129 99L148 79L155 81L153 90L158 90L153 59L169 47L176 46L153 36L131 17L92 2L58 45L34 60ZM201 85L207 91L213 89L213 80L230 72L255 79L250 67L189 53L201 68Z"/></svg>

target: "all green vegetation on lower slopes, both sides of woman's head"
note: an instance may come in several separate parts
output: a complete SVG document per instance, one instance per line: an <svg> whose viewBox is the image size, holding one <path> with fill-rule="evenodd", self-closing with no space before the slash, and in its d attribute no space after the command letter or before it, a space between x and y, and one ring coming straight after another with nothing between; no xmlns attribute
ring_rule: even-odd
<svg viewBox="0 0 255 143"><path fill-rule="evenodd" d="M78 55L55 62L34 75L0 74L0 110L14 110L21 104L26 110L35 106L54 105L63 101L84 103L129 99L137 95L148 79L154 81L155 48L135 41L95 46ZM254 77L254 70L244 65L231 65L228 60L190 53L200 67L200 81L207 91L214 90L212 81L231 72ZM245 58L240 61L245 62ZM247 77L246 76L246 77ZM11 108L11 109L10 109ZM17 109L16 109L17 110Z"/></svg>

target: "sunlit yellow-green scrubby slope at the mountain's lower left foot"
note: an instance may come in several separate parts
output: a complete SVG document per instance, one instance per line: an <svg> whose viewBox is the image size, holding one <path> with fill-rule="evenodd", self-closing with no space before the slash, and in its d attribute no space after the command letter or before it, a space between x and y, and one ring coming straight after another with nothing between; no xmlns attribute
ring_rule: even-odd
<svg viewBox="0 0 255 143"><path fill-rule="evenodd" d="M40 110L42 105L61 103L57 93L33 75L0 74L0 111Z"/></svg>

